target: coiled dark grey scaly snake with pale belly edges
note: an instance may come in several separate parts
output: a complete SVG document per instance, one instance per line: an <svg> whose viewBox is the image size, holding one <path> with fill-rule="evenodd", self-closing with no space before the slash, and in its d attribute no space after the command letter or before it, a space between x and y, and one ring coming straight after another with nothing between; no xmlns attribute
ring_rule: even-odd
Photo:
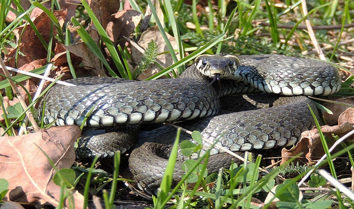
<svg viewBox="0 0 354 209"><path fill-rule="evenodd" d="M176 131L166 126L147 131L140 134L137 146L134 139L139 135L138 129L132 127L183 122L183 127L200 130L203 138L212 141L203 143L202 148L202 151L211 149L208 163L212 169L208 172L212 172L230 163L228 155L212 147L213 142L232 152L292 145L302 131L314 125L307 104L316 107L304 96L327 96L341 87L338 70L331 64L280 54L200 55L176 79L133 81L89 77L68 82L77 86L51 88L39 106L44 108L43 113L38 111L39 117L46 124L76 124L85 129L115 127L123 130L124 138L135 135L122 149L136 147L129 157L129 168L139 188L148 193L159 186L166 166L166 160L161 158L168 157L171 148L167 138L173 141L172 133ZM224 103L221 99L256 92L265 92L266 99L271 93L285 96L289 101L280 106L273 106L273 101L269 108L218 115ZM234 104L238 104L245 97L235 100ZM157 143L152 138L166 140ZM82 144L92 156L109 157L119 149L111 148L115 140L86 139ZM157 150L163 154L156 154ZM181 174L175 168L174 176L178 178Z"/></svg>

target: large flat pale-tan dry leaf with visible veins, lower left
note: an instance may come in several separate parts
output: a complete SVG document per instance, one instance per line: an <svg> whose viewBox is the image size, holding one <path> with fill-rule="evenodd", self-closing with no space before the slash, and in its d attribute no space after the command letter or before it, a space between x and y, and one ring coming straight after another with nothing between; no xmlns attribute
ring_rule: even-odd
<svg viewBox="0 0 354 209"><path fill-rule="evenodd" d="M80 135L79 127L66 125L28 135L1 137L0 178L9 182L5 200L48 202L57 206L60 187L53 183L55 172L44 153L58 169L70 168L75 160L73 143ZM83 196L75 192L74 200L76 208L82 209Z"/></svg>

